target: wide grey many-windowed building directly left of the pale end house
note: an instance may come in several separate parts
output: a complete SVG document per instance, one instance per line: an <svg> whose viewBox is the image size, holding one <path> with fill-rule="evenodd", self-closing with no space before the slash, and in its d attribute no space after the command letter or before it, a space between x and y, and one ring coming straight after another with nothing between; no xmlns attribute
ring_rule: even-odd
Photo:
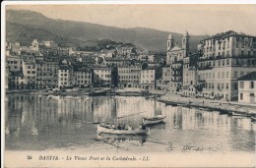
<svg viewBox="0 0 256 168"><path fill-rule="evenodd" d="M139 87L140 72L142 66L118 67L119 87Z"/></svg>

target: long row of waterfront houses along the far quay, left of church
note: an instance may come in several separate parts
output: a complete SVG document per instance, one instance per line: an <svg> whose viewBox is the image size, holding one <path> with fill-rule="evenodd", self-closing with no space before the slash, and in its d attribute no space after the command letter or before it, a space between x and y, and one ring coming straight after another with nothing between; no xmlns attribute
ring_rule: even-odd
<svg viewBox="0 0 256 168"><path fill-rule="evenodd" d="M47 60L32 54L7 58L6 74L9 89L65 88L94 86L155 88L155 69L141 65L93 65L71 59Z"/></svg>

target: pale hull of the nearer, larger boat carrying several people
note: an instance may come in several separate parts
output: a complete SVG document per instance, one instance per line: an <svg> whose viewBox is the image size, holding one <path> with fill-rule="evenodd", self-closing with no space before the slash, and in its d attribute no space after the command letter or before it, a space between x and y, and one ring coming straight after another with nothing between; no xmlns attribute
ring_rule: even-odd
<svg viewBox="0 0 256 168"><path fill-rule="evenodd" d="M97 134L110 134L110 135L136 135L136 136L145 136L149 134L150 129L146 130L134 129L134 130L118 130L116 128L111 129L107 127L97 125Z"/></svg>

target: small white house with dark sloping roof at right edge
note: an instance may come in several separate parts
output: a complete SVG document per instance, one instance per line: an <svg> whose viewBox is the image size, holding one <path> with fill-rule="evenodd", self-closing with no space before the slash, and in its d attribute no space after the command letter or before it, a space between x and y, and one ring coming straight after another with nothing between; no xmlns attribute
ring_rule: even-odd
<svg viewBox="0 0 256 168"><path fill-rule="evenodd" d="M238 102L256 103L256 72L251 72L237 79Z"/></svg>

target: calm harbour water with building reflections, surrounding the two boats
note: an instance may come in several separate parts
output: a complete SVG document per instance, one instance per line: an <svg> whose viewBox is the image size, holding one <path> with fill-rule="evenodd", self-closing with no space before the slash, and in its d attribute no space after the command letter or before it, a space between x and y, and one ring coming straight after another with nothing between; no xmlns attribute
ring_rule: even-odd
<svg viewBox="0 0 256 168"><path fill-rule="evenodd" d="M5 101L8 150L255 152L256 124L250 119L165 106L156 99L10 94ZM142 117L159 114L166 116L164 123L151 127L147 137L98 137L96 125L90 123L129 123L136 128Z"/></svg>

